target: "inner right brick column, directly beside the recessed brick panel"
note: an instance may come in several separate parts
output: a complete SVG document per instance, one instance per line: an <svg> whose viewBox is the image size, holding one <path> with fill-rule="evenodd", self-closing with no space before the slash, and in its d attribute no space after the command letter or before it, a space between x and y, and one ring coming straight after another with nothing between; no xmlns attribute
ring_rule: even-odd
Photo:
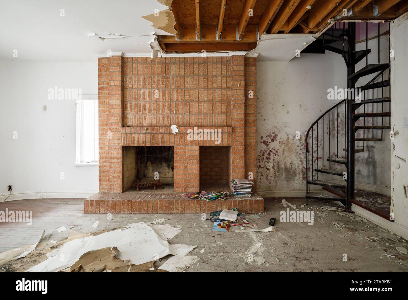
<svg viewBox="0 0 408 300"><path fill-rule="evenodd" d="M245 61L244 56L231 57L232 144L231 179L247 178L245 174Z"/></svg>

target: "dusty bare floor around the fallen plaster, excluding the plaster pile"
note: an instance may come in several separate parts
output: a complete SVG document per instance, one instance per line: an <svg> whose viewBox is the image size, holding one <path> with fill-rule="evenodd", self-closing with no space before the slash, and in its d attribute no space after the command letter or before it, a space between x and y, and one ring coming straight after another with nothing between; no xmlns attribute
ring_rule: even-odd
<svg viewBox="0 0 408 300"><path fill-rule="evenodd" d="M171 244L197 245L189 255L198 256L200 261L198 266L195 264L186 270L190 272L408 271L408 256L395 249L397 246L408 248L402 238L371 222L359 220L355 214L324 208L331 203L309 201L309 205L302 208L300 205L305 204L305 201L290 201L299 209L313 210L314 224L279 222L279 212L288 208L282 206L280 199L266 200L266 213L261 215L261 219L252 222L263 229L269 226L271 217L276 218L277 232L265 233L212 231L212 223L202 221L200 214L113 214L112 220L108 221L105 214L84 214L82 199L3 202L0 203L1 211L6 208L32 210L33 224L27 226L25 223L1 222L0 252L34 244L42 230L46 231L44 241L62 240L67 238L69 229L90 233L133 222L166 218L169 220L162 224L172 224L183 229L170 240ZM99 221L96 229L92 227L95 221ZM56 231L60 226L65 226L67 231ZM265 259L261 265L248 261L248 251L255 243L263 244L254 255ZM343 261L344 254L347 254L347 261ZM155 266L164 260L166 258L156 262Z"/></svg>

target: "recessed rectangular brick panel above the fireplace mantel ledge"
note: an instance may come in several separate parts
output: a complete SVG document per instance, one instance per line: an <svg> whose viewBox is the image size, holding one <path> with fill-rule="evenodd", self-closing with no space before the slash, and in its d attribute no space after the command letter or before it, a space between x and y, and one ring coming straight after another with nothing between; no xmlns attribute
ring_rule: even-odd
<svg viewBox="0 0 408 300"><path fill-rule="evenodd" d="M123 62L124 126L231 126L231 58Z"/></svg>

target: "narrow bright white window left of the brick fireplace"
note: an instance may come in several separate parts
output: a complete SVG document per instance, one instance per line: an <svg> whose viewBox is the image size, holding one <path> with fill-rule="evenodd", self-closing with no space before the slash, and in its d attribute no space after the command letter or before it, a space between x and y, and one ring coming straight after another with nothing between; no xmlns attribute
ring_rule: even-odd
<svg viewBox="0 0 408 300"><path fill-rule="evenodd" d="M85 96L82 94L82 96ZM99 166L99 149L98 149L98 96L97 95L86 95L85 99L75 100L75 166L77 167L98 167ZM86 105L87 107L84 107ZM89 105L89 106L88 106ZM95 107L96 106L96 107ZM88 118L90 118L89 110L82 111L83 109L93 109L93 128L84 132L84 114L88 112ZM88 121L89 122L89 121ZM89 135L93 138L91 141L91 146L93 149L84 149L84 144L89 141L85 141L85 135ZM89 145L89 144L88 144ZM86 153L85 153L86 152ZM93 158L93 160L85 160L85 156L88 158Z"/></svg>

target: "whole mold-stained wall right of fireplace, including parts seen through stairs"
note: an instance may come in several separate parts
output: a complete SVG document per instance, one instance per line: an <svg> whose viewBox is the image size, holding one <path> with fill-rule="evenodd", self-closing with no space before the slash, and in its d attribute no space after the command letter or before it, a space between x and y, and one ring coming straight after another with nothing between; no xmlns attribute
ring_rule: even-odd
<svg viewBox="0 0 408 300"><path fill-rule="evenodd" d="M380 46L381 62L388 62L386 38L380 39ZM365 42L357 44L357 49L361 47L365 49ZM377 40L370 40L368 47L372 49L368 63L377 63ZM356 70L361 69L365 64L366 60L364 59L357 65ZM362 78L357 86L358 84L365 84L371 78L368 76ZM304 142L306 131L327 109L340 102L340 100L328 100L327 90L329 88L334 89L335 86L339 88L346 87L346 79L347 69L343 58L341 55L329 51L326 51L325 54L301 54L299 58L295 57L290 62L259 61L257 63L257 176L259 180L258 190L263 196L304 195L306 190ZM384 79L388 79L388 73L384 75ZM388 91L384 90L384 96L388 96L387 93ZM366 94L366 98L371 96L371 94ZM376 93L375 96L377 96ZM378 96L381 96L381 93ZM372 107L366 107L367 112L371 109ZM384 111L388 111L387 109L388 107L384 106ZM344 127L344 106L339 106L338 111L338 155L344 157L344 131L340 130ZM375 111L381 111L381 107L375 107ZM366 123L370 121L366 121ZM388 120L384 120L384 122L388 122ZM381 118L374 120L374 123L380 125ZM320 130L322 125L319 124ZM335 147L333 128L335 128L336 124L333 114L330 118L330 124L332 128L330 135L332 136L331 149L333 155L333 148ZM328 122L326 120L324 126L327 133ZM296 131L300 132L300 139L295 138ZM389 131L383 132L384 141L382 142L366 142L366 151L356 154L357 183L381 186L384 187L384 190L390 187L388 133ZM371 137L371 132L369 134ZM381 131L376 134L381 137ZM321 132L319 132L319 140L321 139ZM328 151L326 151L328 150L327 140L326 135L324 156L321 153L318 156L319 167L323 164L328 168L328 162L326 162L328 157ZM345 166L340 164L332 164L331 167L346 171ZM319 175L319 179L341 180L337 176L324 175Z"/></svg>

